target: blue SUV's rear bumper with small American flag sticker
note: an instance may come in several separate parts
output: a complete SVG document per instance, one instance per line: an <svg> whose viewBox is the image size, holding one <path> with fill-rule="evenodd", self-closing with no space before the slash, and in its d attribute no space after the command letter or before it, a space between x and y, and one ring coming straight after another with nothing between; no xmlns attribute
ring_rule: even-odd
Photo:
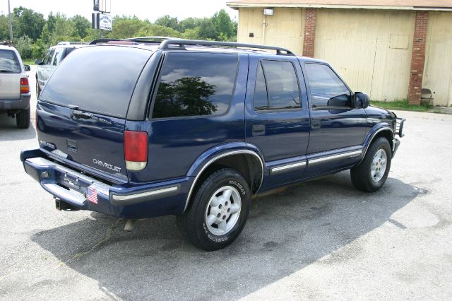
<svg viewBox="0 0 452 301"><path fill-rule="evenodd" d="M180 214L192 182L191 177L184 177L153 184L108 184L49 160L39 149L22 151L20 160L25 172L55 198L117 218ZM87 198L88 190L95 191L95 200Z"/></svg>

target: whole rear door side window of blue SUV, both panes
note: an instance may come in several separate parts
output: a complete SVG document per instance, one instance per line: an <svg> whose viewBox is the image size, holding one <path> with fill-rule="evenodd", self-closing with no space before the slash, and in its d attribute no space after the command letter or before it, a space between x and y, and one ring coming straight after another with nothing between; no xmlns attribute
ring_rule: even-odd
<svg viewBox="0 0 452 301"><path fill-rule="evenodd" d="M299 86L290 61L261 61L258 64L254 110L299 109Z"/></svg>

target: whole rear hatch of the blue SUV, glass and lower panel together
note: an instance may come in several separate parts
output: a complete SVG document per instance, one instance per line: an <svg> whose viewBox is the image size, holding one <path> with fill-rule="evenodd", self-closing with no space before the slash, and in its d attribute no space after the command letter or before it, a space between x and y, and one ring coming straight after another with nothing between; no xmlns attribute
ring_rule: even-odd
<svg viewBox="0 0 452 301"><path fill-rule="evenodd" d="M40 147L77 169L127 181L124 124L151 55L145 49L97 46L66 57L37 104Z"/></svg>

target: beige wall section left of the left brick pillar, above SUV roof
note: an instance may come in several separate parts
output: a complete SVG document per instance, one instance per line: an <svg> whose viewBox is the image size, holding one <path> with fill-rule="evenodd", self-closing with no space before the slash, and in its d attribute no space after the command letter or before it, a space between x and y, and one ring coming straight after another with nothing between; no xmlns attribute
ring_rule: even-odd
<svg viewBox="0 0 452 301"><path fill-rule="evenodd" d="M254 37L249 37L250 33L253 33ZM239 9L238 42L285 47L301 55L303 33L302 8L275 8L273 16L263 16L263 8Z"/></svg>

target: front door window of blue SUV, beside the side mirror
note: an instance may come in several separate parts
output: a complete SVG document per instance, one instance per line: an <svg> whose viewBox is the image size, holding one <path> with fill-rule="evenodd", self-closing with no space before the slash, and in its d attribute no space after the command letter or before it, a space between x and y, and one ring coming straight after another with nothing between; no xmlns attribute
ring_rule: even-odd
<svg viewBox="0 0 452 301"><path fill-rule="evenodd" d="M306 64L306 71L314 107L350 107L350 91L329 66Z"/></svg>

